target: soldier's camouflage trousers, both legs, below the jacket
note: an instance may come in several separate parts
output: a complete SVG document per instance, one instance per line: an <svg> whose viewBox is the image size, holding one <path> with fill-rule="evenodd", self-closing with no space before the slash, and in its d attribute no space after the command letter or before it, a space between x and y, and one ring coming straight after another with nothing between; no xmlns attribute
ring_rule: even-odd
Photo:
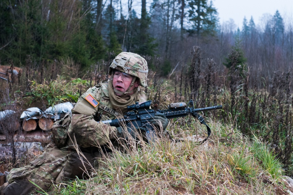
<svg viewBox="0 0 293 195"><path fill-rule="evenodd" d="M99 152L91 150L85 150L82 153L64 151L57 148L55 144L48 144L44 153L29 165L11 169L7 176L8 182L0 187L0 195L32 194L36 190L48 189L53 180L61 182L75 179L75 176L86 179L93 168L98 168L95 157L99 155Z"/></svg>

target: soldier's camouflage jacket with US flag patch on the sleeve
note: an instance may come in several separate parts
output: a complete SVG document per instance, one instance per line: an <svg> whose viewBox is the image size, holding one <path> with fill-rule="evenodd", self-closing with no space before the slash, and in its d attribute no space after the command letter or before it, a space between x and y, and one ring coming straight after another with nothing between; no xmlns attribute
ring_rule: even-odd
<svg viewBox="0 0 293 195"><path fill-rule="evenodd" d="M138 90L139 103L147 100L147 95ZM88 98L94 98L90 102ZM95 101L96 100L96 101ZM72 109L72 119L69 125L68 135L71 140L75 137L79 147L93 147L104 145L109 142L109 134L112 127L98 121L112 120L117 118L119 112L113 108L108 94L108 82L103 81L89 88L81 95L75 107ZM67 142L70 146L72 142Z"/></svg>

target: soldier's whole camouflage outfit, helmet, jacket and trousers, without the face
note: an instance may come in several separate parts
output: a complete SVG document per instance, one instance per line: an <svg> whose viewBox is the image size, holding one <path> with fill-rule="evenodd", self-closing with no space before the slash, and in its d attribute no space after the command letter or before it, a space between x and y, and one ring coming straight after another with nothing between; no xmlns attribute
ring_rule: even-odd
<svg viewBox="0 0 293 195"><path fill-rule="evenodd" d="M120 53L110 65L109 75L112 75L113 69L133 75L139 79L141 86L147 86L147 62L139 55ZM133 83L134 80L132 85ZM131 92L128 90L125 94L127 93ZM133 103L146 101L147 95L144 92L138 89L134 93L138 95ZM89 103L87 97L95 99L94 105ZM109 143L109 136L116 128L98 121L114 119L118 116L117 113L110 102L107 82L103 81L88 89L72 109L68 129L71 139L67 139L67 146L59 149L50 143L38 159L25 167L12 169L8 174L8 182L0 187L0 195L31 194L39 188L30 181L46 190L53 180L60 182L64 179L74 179L75 176L80 179L87 178L84 169L90 173L92 168L97 168L95 158L100 156L100 151L96 146ZM83 155L75 151L74 139Z"/></svg>

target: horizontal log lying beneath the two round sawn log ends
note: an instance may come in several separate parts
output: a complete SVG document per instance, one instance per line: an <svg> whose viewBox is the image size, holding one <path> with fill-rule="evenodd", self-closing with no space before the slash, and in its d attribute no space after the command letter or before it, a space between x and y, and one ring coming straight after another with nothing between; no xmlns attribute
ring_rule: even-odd
<svg viewBox="0 0 293 195"><path fill-rule="evenodd" d="M42 130L36 130L31 132L21 132L20 134L14 134L13 140L14 142L44 142L44 143L50 143L51 139L49 137L50 135ZM6 143L6 137L5 135L0 135L0 143ZM6 140L6 141L5 141Z"/></svg>

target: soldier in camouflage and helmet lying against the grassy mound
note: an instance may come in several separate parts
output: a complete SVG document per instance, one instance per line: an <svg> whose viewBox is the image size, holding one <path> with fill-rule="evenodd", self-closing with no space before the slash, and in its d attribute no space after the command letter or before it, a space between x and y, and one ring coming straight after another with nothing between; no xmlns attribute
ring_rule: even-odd
<svg viewBox="0 0 293 195"><path fill-rule="evenodd" d="M108 72L111 79L88 89L72 109L65 146L59 149L51 143L30 165L12 169L8 182L0 187L0 195L33 193L38 188L29 180L45 190L52 180L87 178L98 167L96 158L107 151L110 142L115 145L118 139L138 132L99 121L115 119L127 111L128 105L145 102L147 94L139 90L139 85L147 86L147 73L147 61L138 54L122 52L116 56ZM164 115L156 115L151 122L162 130L168 125Z"/></svg>

